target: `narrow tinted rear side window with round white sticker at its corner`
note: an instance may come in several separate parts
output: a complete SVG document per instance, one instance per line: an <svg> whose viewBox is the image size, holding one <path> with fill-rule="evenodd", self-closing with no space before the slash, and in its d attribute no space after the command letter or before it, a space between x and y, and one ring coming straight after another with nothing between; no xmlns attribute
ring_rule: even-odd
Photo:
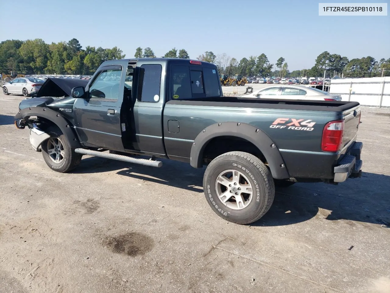
<svg viewBox="0 0 390 293"><path fill-rule="evenodd" d="M141 68L144 69L141 102L158 102L162 67L160 64L145 64Z"/></svg>

